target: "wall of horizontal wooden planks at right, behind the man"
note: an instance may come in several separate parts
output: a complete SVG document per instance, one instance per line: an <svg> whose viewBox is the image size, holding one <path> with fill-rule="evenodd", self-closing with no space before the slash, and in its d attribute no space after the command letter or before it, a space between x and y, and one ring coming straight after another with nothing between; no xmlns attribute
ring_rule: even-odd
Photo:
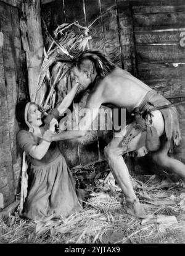
<svg viewBox="0 0 185 256"><path fill-rule="evenodd" d="M134 42L138 78L157 90L171 102L185 99L185 47L180 45L181 32L185 31L185 2L133 1ZM184 104L178 107L182 141L174 156L185 162ZM157 170L147 164L149 157L138 159L142 169ZM140 172L135 165L134 172Z"/></svg>

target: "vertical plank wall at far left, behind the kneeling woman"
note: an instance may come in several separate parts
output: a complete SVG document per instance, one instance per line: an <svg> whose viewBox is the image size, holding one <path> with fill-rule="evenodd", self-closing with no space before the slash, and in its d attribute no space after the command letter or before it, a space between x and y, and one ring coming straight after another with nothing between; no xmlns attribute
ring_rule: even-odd
<svg viewBox="0 0 185 256"><path fill-rule="evenodd" d="M0 46L0 193L4 195L6 207L15 200L20 179L15 105L17 100L27 97L27 67L20 40L18 9L0 1L0 17L4 37L4 45Z"/></svg>

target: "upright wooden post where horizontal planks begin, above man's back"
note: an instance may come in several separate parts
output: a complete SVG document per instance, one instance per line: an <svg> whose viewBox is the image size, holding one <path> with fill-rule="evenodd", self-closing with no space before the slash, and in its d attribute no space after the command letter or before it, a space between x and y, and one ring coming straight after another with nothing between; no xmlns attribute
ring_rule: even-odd
<svg viewBox="0 0 185 256"><path fill-rule="evenodd" d="M136 56L134 50L133 18L128 2L117 1L118 20L120 24L121 59L123 68L136 75Z"/></svg>

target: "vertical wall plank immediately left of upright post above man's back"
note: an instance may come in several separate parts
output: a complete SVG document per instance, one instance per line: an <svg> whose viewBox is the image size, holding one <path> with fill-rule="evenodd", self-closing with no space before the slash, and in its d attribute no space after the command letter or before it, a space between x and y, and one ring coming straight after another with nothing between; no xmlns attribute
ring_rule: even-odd
<svg viewBox="0 0 185 256"><path fill-rule="evenodd" d="M109 11L111 8L112 11ZM115 0L101 0L102 17L105 37L105 53L110 60L121 67L121 50L118 37L118 24Z"/></svg>

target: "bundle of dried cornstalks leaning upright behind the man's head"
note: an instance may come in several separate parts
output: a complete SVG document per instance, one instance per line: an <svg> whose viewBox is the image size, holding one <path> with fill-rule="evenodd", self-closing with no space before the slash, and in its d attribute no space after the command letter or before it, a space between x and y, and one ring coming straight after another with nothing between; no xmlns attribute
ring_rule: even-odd
<svg viewBox="0 0 185 256"><path fill-rule="evenodd" d="M50 35L51 37L51 35ZM73 58L88 48L88 29L78 22L62 24L54 31L51 45L44 50L44 60L39 74L33 102L39 105L42 112L54 108L56 90L58 101L62 100L71 89L70 66Z"/></svg>

